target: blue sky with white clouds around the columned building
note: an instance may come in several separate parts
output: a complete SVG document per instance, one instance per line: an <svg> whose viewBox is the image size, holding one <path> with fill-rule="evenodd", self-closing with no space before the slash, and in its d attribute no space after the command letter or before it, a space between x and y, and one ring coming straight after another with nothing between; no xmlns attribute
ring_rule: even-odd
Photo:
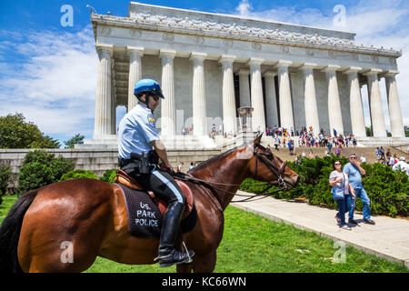
<svg viewBox="0 0 409 291"><path fill-rule="evenodd" d="M140 1L142 2L142 1ZM403 49L397 84L409 125L408 1L143 1L145 4L273 21L356 33L356 44ZM90 23L92 5L98 14L126 16L129 1L10 1L0 8L0 115L21 112L46 135L64 141L77 133L91 138L94 130L96 53ZM62 26L63 5L74 9L73 26ZM344 5L344 26L334 25L335 5ZM384 82L384 113L389 128ZM362 91L369 125L366 90ZM124 115L118 112L118 118Z"/></svg>

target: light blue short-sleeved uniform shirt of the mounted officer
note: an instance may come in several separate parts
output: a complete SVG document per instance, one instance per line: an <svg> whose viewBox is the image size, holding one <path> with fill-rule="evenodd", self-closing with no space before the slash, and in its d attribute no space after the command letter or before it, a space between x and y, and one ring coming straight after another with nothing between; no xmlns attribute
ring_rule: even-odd
<svg viewBox="0 0 409 291"><path fill-rule="evenodd" d="M159 139L151 109L137 104L119 123L118 156L127 159L131 153L149 152L154 149L150 142Z"/></svg>

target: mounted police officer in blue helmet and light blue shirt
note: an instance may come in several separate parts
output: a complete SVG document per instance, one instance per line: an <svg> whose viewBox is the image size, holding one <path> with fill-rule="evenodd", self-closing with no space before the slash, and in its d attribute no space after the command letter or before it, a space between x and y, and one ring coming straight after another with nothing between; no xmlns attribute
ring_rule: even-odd
<svg viewBox="0 0 409 291"><path fill-rule="evenodd" d="M160 98L165 99L160 85L151 79L136 83L134 95L139 103L130 110L119 124L119 165L129 176L151 190L168 204L159 241L159 266L188 263L194 256L175 249L186 198L173 176L166 149L156 130L154 111ZM161 168L157 167L158 158Z"/></svg>

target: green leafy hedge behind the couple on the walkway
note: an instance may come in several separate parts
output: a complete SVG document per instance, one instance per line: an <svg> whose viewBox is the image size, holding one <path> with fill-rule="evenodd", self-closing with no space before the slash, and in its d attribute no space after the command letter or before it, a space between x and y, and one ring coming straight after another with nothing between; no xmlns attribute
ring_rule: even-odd
<svg viewBox="0 0 409 291"><path fill-rule="evenodd" d="M303 196L308 202L317 206L329 206L336 209L331 186L328 178L333 171L334 161L339 160L342 165L348 163L344 156L325 156L324 158L303 158L302 164L289 162L299 176L300 183L290 191L281 191L274 197L294 199ZM381 163L374 165L363 163L366 174L362 177L363 185L371 200L371 213L374 215L407 216L409 210L409 177L404 171L394 171L390 166ZM260 182L246 179L241 189L248 192L260 192ZM254 186L253 186L254 185ZM362 211L361 200L356 199L356 210Z"/></svg>

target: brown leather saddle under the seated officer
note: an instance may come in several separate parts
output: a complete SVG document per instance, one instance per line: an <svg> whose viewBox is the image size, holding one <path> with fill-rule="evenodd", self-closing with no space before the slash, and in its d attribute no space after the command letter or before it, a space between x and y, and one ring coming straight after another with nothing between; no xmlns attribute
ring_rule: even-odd
<svg viewBox="0 0 409 291"><path fill-rule="evenodd" d="M126 174L125 171L121 169L116 170L115 183L122 184L134 190L147 192L149 196L151 196L151 198L155 201L155 204L158 206L162 216L165 216L167 203L164 200L161 200L158 197L156 197L154 192L146 191L143 186L141 186L132 176ZM189 216L192 213L194 209L192 190L182 181L176 180L176 183L180 186L180 188L182 189L186 196L186 206L184 214L182 216L182 220L184 220L187 216Z"/></svg>

